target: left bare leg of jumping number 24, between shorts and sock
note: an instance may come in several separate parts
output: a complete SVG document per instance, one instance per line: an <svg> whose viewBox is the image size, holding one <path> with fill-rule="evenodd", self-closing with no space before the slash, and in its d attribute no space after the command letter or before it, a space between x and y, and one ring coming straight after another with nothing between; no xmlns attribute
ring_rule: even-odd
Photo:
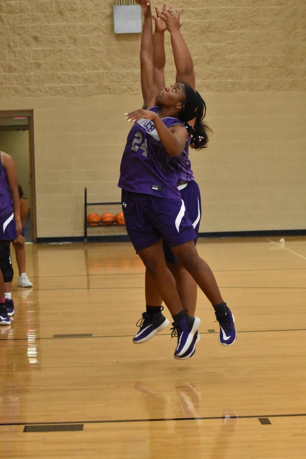
<svg viewBox="0 0 306 459"><path fill-rule="evenodd" d="M172 316L183 310L179 294L176 290L175 278L166 266L164 251L161 240L147 249L139 250L148 273L151 274L157 286L160 296L169 309Z"/></svg>

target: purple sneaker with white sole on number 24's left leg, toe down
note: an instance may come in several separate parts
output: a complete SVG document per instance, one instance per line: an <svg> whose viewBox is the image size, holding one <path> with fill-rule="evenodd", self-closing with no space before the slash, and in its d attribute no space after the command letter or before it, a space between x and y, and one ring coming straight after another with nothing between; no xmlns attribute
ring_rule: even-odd
<svg viewBox="0 0 306 459"><path fill-rule="evenodd" d="M200 323L201 320L198 317L191 317L187 314L179 322L173 322L171 338L177 336L174 357L180 357L188 351Z"/></svg>

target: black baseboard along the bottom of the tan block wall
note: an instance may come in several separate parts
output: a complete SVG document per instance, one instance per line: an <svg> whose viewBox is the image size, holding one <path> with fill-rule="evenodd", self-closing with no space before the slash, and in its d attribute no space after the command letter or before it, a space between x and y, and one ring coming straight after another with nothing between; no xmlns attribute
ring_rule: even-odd
<svg viewBox="0 0 306 459"><path fill-rule="evenodd" d="M264 236L306 236L306 229L267 229L263 231L219 231L212 233L199 233L199 237L264 237ZM126 242L130 241L128 235L116 236L87 236L87 242ZM67 237L38 237L38 244L65 244L71 242L84 242L84 236Z"/></svg>

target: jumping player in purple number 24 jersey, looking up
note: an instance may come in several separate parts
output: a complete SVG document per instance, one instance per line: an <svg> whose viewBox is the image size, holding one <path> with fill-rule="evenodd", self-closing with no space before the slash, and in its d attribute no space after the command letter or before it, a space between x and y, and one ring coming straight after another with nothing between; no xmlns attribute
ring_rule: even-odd
<svg viewBox="0 0 306 459"><path fill-rule="evenodd" d="M173 11L162 11L160 15L171 35L177 68L177 82L162 91L158 90L153 78L153 29L149 6L144 16L141 81L144 105L148 110L126 114L126 119L135 124L122 157L119 186L128 234L174 319L172 335L178 338L175 357L181 357L190 348L200 319L187 315L180 302L175 279L165 264L162 237L213 304L220 324L221 344L232 344L236 332L234 318L221 297L213 273L197 254L196 234L175 187L177 175L171 158L180 156L189 146L184 123L196 115L190 123L194 147L201 148L207 140L202 123L204 101L189 84L181 81L190 74L191 67L186 62L191 62L192 68L193 64L180 34L180 15ZM166 319L161 313L156 315L158 317L152 318L147 329L159 331L164 327Z"/></svg>

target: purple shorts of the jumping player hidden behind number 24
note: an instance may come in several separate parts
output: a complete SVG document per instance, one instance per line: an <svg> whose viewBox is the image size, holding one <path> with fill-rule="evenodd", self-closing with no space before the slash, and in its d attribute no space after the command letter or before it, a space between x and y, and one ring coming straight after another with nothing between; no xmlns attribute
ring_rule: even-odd
<svg viewBox="0 0 306 459"><path fill-rule="evenodd" d="M186 212L192 222L192 226L196 231L196 237L194 243L197 243L197 236L199 234L200 220L202 215L201 207L201 194L200 189L194 180L188 182L186 185L181 185L180 196L185 203ZM175 257L175 254L170 249L169 245L163 239L164 256L167 263L179 263L179 260Z"/></svg>

